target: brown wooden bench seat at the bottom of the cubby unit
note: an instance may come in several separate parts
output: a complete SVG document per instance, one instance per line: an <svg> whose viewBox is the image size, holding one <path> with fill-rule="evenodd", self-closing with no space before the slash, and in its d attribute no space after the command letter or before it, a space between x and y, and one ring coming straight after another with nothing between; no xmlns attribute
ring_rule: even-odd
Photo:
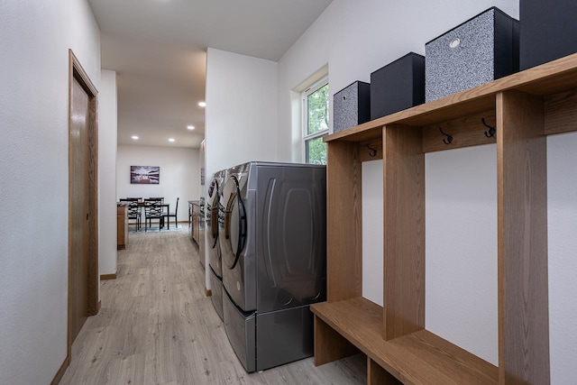
<svg viewBox="0 0 577 385"><path fill-rule="evenodd" d="M312 305L311 310L405 384L499 382L496 366L426 330L385 341L382 338L382 307L368 299L323 302Z"/></svg>

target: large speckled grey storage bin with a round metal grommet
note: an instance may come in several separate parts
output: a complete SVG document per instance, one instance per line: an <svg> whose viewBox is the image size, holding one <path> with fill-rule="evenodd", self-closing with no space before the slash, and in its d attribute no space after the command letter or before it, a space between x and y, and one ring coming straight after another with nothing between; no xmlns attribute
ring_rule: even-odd
<svg viewBox="0 0 577 385"><path fill-rule="evenodd" d="M519 22L491 7L425 45L426 102L518 71Z"/></svg>

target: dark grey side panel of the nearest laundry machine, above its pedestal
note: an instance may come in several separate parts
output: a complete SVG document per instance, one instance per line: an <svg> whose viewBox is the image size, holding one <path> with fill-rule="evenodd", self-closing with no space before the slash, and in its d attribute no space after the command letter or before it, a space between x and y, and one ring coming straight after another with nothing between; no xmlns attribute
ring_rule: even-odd
<svg viewBox="0 0 577 385"><path fill-rule="evenodd" d="M260 312L298 307L325 298L324 175L302 167L259 169L262 214L256 232L260 236Z"/></svg>

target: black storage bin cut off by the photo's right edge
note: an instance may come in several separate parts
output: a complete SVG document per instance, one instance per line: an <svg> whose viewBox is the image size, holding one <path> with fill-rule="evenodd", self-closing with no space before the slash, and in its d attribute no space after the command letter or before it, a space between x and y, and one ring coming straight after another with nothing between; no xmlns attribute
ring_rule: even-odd
<svg viewBox="0 0 577 385"><path fill-rule="evenodd" d="M575 0L520 0L519 18L521 70L577 52Z"/></svg>

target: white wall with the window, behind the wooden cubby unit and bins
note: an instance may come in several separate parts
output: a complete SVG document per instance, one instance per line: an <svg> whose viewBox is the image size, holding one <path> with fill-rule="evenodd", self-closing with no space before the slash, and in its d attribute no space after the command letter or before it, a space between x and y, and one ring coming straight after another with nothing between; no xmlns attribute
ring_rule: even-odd
<svg viewBox="0 0 577 385"><path fill-rule="evenodd" d="M291 90L312 74L317 69L324 66L329 68L329 87L331 95L343 87L351 84L354 80L370 81L371 72L375 69L396 60L409 51L415 51L424 54L425 43L434 39L436 36L450 30L454 26L463 23L470 17L480 14L492 5L498 6L507 14L518 18L518 0L481 0L476 2L462 2L459 0L435 0L430 2L392 2L382 0L334 0L325 10L316 22L308 29L307 32L291 47L291 49L279 60L279 136L278 151L279 160L301 159L301 148L298 135L300 132L294 130L294 120L298 115L293 115L291 110ZM418 6L418 12L415 11ZM549 245L549 306L550 306L550 335L551 335L551 379L554 384L566 384L574 382L574 362L577 362L577 339L574 333L574 325L577 323L577 289L572 284L575 275L577 275L577 264L575 254L577 253L577 242L574 234L577 233L577 179L574 170L577 168L577 158L575 147L577 146L577 133L564 134L548 138L548 245ZM476 159L484 158L489 160L488 154L477 154L476 150L481 149L463 149L461 153L451 154L447 152L427 156L426 173L427 178L443 175L443 168L447 166L447 161L454 158L453 161L463 162L463 165L474 166ZM490 160L494 161L494 160ZM454 165L457 167L458 165ZM363 210L365 204L371 202L377 197L368 194L367 191L374 192L382 183L382 174L378 167L363 165ZM490 170L490 169L486 169ZM492 172L492 171L491 171ZM464 172L464 174L467 174ZM489 174L482 174L483 179L490 181L493 177ZM371 184L372 182L372 184ZM441 180L439 180L441 182ZM477 173L463 175L461 179L462 187L476 186ZM493 180L494 182L494 180ZM476 265L481 263L479 268L483 270L482 276L487 281L481 282L475 280L472 288L478 290L471 301L480 303L482 307L490 313L490 318L482 326L483 332L478 333L470 331L465 327L464 334L471 341L460 341L463 337L463 328L459 325L458 320L466 321L466 317L459 315L456 308L450 308L450 318L453 331L446 331L445 338L453 340L456 344L465 344L466 348L483 355L491 362L495 361L495 332L490 332L494 327L491 319L494 319L494 285L490 282L496 282L496 267L494 266L494 253L490 248L495 247L495 240L492 226L494 223L494 210L489 208L493 205L492 199L494 186L491 182L490 197L484 197L483 202L475 197L457 197L459 206L466 206L475 210L475 207L488 205L485 213L477 213L475 219L478 220L488 233L485 234L488 242L485 246L476 248L470 255L467 255L467 261L463 261L462 269L471 273ZM431 184L432 183L432 184ZM481 188L481 186L480 186ZM485 186L484 188L488 188ZM443 183L434 182L429 179L427 189L430 193L440 193L442 197L444 192L449 190L443 187ZM429 195L427 201L427 255L426 261L429 264L437 263L438 267L446 265L454 258L455 254L447 256L440 255L436 249L442 249L440 245L428 243L433 242L428 234L434 232L431 223L441 224L441 212L435 213L435 205L440 206L442 201L436 204ZM436 198L435 198L436 199ZM429 207L431 204L434 206ZM429 208L433 208L431 211ZM438 207L437 207L438 208ZM481 210L482 211L482 210ZM364 212L364 211L363 211ZM363 217L363 269L367 263L379 269L382 254L371 249L370 243L375 240L382 240L382 216L378 215ZM447 223L458 220L454 214L449 215ZM461 222L463 224L463 222ZM470 233L467 231L467 233ZM459 239L453 239L459 238ZM468 250L467 243L472 242L467 236L459 234L453 237L451 242L455 250ZM473 241L479 245L479 240ZM431 247L429 247L431 246ZM369 252L368 252L369 251ZM435 261L435 262L433 262ZM429 271L427 265L427 298L426 301L441 300L444 292L450 285L455 282L435 282L442 280L442 276L435 273L435 270ZM441 268L437 269L440 271ZM493 272L491 272L491 270ZM366 271L366 270L365 270ZM429 274L430 273L430 274ZM454 277L457 271L452 270L447 273L449 277ZM436 275L436 277L435 277ZM479 278L479 277L478 277ZM363 296L379 302L382 294L376 292L381 286L375 282L382 280L382 277L371 277L371 282L363 281ZM489 284L489 286L487 286ZM492 286L490 288L490 286ZM377 288L377 289L371 289ZM485 292L481 294L481 292ZM452 296L458 296L459 293L452 293ZM433 296L433 297L431 297ZM442 325L443 317L432 315L435 313L433 304L427 307L426 324L437 329L437 333L445 334L445 331L437 327ZM432 317L433 316L433 317ZM456 321L456 322L455 322ZM490 335L489 344L485 341L486 333ZM493 344L492 346L490 344Z"/></svg>

